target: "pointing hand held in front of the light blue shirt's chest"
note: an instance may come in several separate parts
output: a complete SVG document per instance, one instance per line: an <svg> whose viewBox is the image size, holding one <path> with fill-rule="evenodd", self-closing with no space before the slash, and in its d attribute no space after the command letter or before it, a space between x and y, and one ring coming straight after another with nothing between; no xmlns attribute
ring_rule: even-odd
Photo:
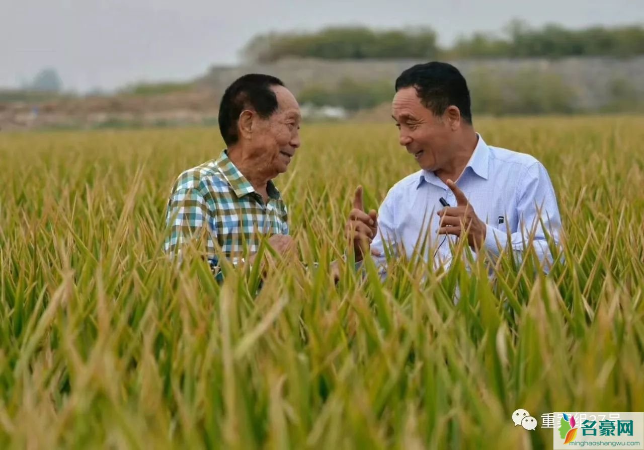
<svg viewBox="0 0 644 450"><path fill-rule="evenodd" d="M478 219L477 214L468 202L463 191L456 183L448 180L448 187L456 197L457 206L443 208L437 214L440 216L439 235L459 236L467 231L468 244L473 249L479 249L485 242L486 224Z"/></svg>

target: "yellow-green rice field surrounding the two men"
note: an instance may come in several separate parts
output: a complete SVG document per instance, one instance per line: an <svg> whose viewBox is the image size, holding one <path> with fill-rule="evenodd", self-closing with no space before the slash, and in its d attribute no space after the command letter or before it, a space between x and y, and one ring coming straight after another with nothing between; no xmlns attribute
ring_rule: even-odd
<svg viewBox="0 0 644 450"><path fill-rule="evenodd" d="M301 264L261 289L162 253L171 184L219 155L216 128L0 134L0 448L541 449L542 414L644 411L644 120L475 125L549 170L547 276L401 259L334 285L357 184L376 208L417 170L392 123L303 126L277 179Z"/></svg>

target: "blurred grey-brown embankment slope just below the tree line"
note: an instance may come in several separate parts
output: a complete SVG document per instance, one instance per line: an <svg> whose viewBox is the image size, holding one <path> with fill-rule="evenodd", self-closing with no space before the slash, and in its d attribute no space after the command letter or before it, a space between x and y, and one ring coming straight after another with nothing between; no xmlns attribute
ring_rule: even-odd
<svg viewBox="0 0 644 450"><path fill-rule="evenodd" d="M331 61L321 59L282 59L270 64L213 66L198 81L214 92L223 92L234 79L249 72L270 73L281 78L296 94L309 86L333 87L343 79L365 83L390 81L404 69L421 60ZM644 93L644 56L628 59L610 57L569 57L550 59L469 59L448 61L459 68L468 83L477 77L505 79L521 73L550 73L573 86L578 108L593 109L605 101L609 85L615 80L627 81L636 92ZM475 92L473 92L475 96Z"/></svg>

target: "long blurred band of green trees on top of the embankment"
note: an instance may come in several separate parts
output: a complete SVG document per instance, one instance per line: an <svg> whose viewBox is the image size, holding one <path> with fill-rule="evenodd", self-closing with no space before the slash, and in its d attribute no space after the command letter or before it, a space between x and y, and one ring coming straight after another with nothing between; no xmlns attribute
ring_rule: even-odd
<svg viewBox="0 0 644 450"><path fill-rule="evenodd" d="M320 59L430 59L472 57L565 57L644 54L644 27L592 26L570 30L556 24L531 28L513 21L504 36L477 32L460 37L451 48L439 48L430 28L372 30L364 26L336 26L319 32L257 35L242 50L254 63L283 57Z"/></svg>

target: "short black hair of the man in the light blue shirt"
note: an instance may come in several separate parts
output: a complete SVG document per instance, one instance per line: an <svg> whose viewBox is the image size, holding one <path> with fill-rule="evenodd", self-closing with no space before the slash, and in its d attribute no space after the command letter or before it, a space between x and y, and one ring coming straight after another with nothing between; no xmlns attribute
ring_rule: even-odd
<svg viewBox="0 0 644 450"><path fill-rule="evenodd" d="M432 61L408 68L396 79L395 89L398 92L412 86L421 103L434 115L442 115L454 105L459 108L460 116L472 123L468 83L451 64Z"/></svg>

